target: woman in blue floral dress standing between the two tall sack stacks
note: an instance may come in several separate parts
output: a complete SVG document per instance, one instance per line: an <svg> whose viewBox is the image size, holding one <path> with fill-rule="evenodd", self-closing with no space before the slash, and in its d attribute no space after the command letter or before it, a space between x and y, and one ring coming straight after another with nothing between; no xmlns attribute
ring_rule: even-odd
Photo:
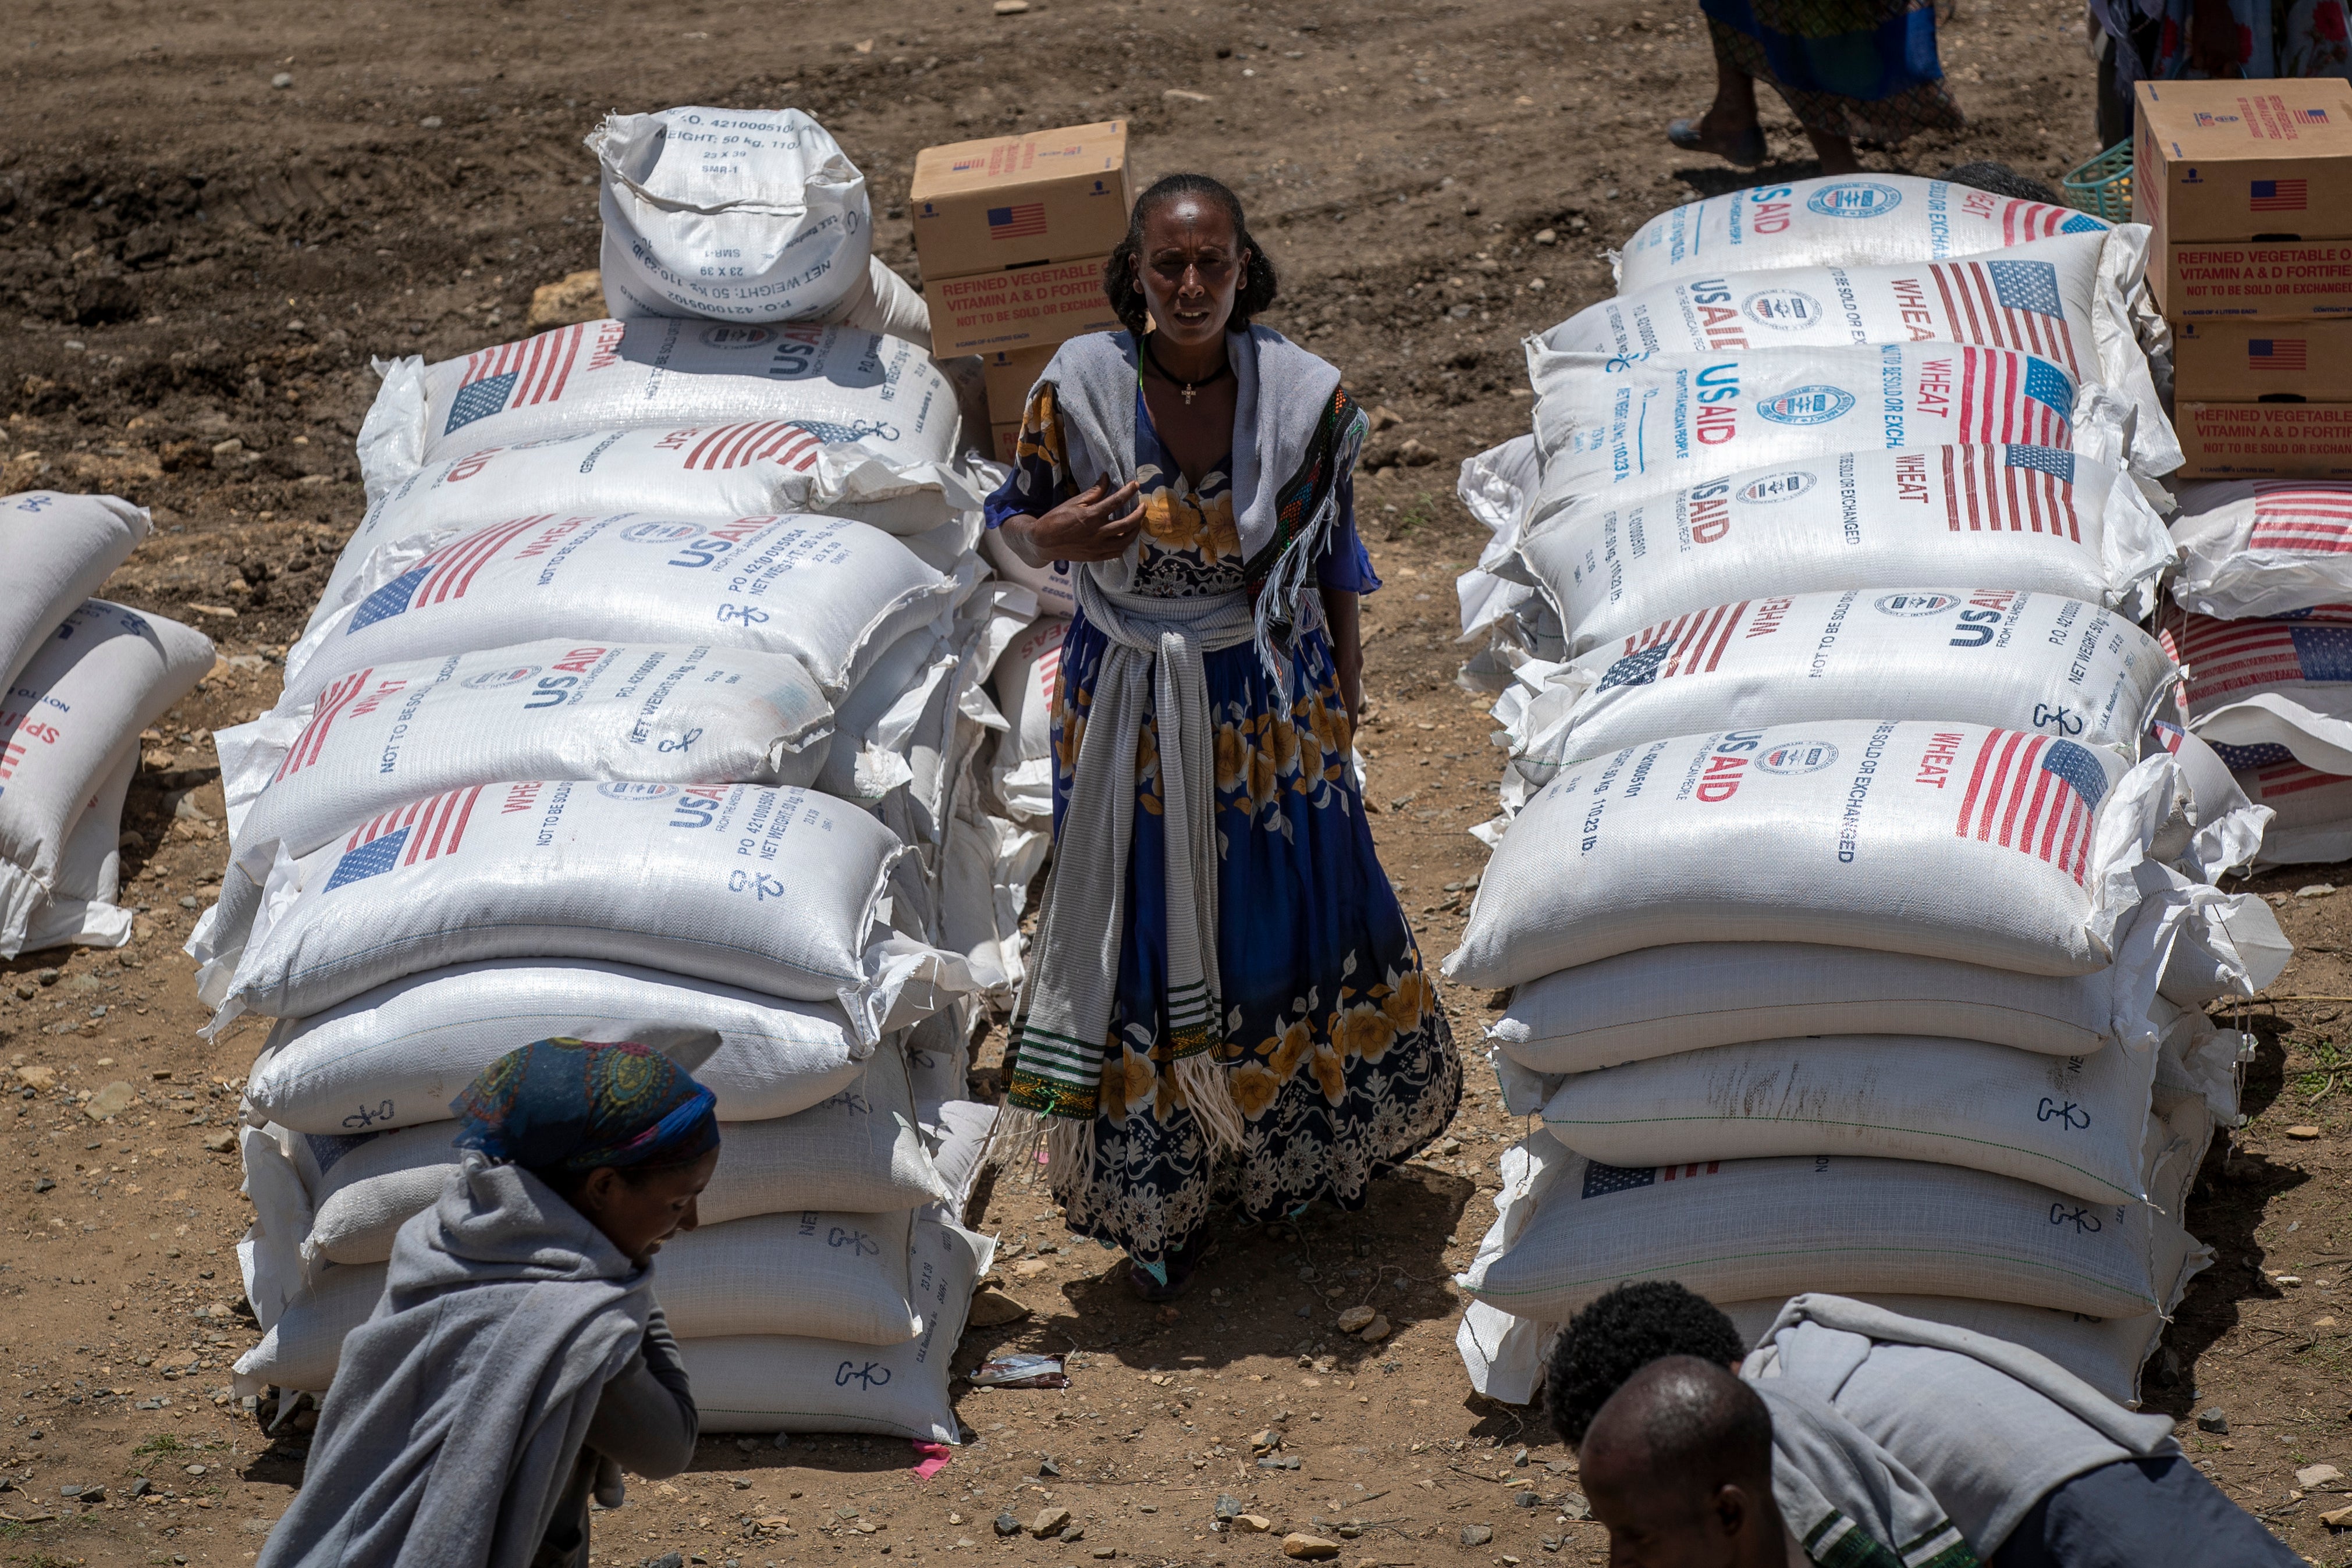
<svg viewBox="0 0 2352 1568"><path fill-rule="evenodd" d="M1461 1060L1352 766L1364 414L1251 324L1275 268L1214 179L1143 193L1105 292L1127 331L1063 343L988 501L1023 559L1084 562L1000 1140L1044 1131L1070 1227L1167 1300L1223 1206L1362 1206Z"/></svg>

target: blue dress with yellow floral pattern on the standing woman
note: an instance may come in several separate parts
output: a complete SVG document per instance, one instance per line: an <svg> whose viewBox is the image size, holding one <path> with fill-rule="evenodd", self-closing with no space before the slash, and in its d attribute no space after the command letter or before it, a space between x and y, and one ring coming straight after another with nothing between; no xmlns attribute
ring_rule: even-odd
<svg viewBox="0 0 2352 1568"><path fill-rule="evenodd" d="M1134 590L1164 597L1240 590L1230 463L1190 484L1160 444L1141 388L1136 447L1145 520ZM1054 388L1042 386L1025 409L1011 477L988 501L988 524L1037 517L1075 491ZM1322 581L1357 592L1378 588L1355 534L1348 482ZM1056 832L1101 656L1103 635L1077 616L1063 642L1054 710ZM1329 637L1317 628L1298 639L1289 701L1275 693L1247 642L1209 654L1204 665L1216 731L1216 957L1225 999L1218 1058L1232 1063L1247 1143L1240 1159L1211 1159L1164 1048L1160 729L1148 712L1136 748L1129 929L1120 945L1094 1171L1084 1178L1089 1201L1073 1206L1087 1234L1124 1246L1162 1279L1164 1262L1223 1206L1251 1222L1296 1213L1317 1197L1359 1208L1371 1178L1411 1159L1461 1100L1461 1058L1437 990L1374 856Z"/></svg>

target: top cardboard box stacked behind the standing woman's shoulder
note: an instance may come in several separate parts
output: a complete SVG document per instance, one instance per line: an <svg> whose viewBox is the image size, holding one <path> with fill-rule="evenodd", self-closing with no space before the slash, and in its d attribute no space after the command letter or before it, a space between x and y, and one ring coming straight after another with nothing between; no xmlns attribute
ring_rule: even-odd
<svg viewBox="0 0 2352 1568"><path fill-rule="evenodd" d="M1105 256L1134 205L1127 120L924 148L908 193L927 284Z"/></svg>

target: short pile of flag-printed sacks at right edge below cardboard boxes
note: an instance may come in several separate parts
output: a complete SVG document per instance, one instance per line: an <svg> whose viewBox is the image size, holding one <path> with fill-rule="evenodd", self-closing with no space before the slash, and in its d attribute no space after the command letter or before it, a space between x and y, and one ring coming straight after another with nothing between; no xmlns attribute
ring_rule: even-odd
<svg viewBox="0 0 2352 1568"><path fill-rule="evenodd" d="M2352 858L2352 484L2180 487L2183 722L2274 811L2256 865Z"/></svg>

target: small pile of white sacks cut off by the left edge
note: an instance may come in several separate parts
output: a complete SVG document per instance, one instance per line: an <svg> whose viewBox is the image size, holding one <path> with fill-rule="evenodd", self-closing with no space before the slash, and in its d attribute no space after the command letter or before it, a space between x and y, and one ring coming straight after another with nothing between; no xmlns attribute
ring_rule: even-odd
<svg viewBox="0 0 2352 1568"><path fill-rule="evenodd" d="M139 731L212 672L212 642L92 597L148 536L118 496L0 496L0 959L122 947L122 802Z"/></svg>

